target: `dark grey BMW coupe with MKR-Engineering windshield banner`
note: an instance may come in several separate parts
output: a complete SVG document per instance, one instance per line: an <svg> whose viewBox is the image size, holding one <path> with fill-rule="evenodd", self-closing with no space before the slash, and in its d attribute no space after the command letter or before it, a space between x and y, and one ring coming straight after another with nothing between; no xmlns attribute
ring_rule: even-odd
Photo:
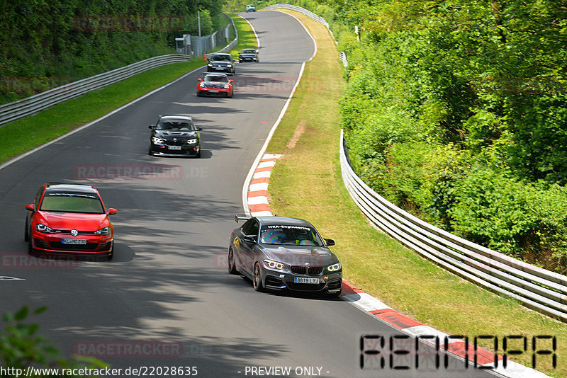
<svg viewBox="0 0 567 378"><path fill-rule="evenodd" d="M252 280L254 290L303 292L342 290L342 265L313 224L289 217L235 217L246 220L232 231L228 271Z"/></svg>

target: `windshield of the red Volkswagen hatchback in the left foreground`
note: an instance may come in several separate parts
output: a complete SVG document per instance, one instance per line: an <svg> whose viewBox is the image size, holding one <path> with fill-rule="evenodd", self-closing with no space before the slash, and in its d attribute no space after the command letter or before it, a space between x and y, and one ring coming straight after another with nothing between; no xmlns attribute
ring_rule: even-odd
<svg viewBox="0 0 567 378"><path fill-rule="evenodd" d="M48 212L84 212L103 214L101 199L90 193L45 193L40 210Z"/></svg>

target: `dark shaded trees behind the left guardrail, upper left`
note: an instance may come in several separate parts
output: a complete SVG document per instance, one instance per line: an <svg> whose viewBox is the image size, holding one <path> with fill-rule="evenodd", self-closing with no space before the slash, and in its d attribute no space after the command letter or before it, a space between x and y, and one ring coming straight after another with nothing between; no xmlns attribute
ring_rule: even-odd
<svg viewBox="0 0 567 378"><path fill-rule="evenodd" d="M217 0L0 1L0 103L175 52L226 24Z"/></svg>

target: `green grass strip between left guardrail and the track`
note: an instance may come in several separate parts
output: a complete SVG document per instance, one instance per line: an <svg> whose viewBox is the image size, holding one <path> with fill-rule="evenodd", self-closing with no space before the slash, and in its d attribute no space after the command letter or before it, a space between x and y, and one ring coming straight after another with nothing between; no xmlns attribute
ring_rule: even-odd
<svg viewBox="0 0 567 378"><path fill-rule="evenodd" d="M249 47L251 41L256 45L256 38L250 25L239 16L230 15L238 30L239 43L232 53ZM237 55L237 53L236 53ZM4 126L0 126L0 163L23 154L30 149L50 142L87 122L105 115L120 106L153 91L164 84L174 81L179 76L203 66L205 62L195 59L191 62L168 64L150 69L112 84L84 94L73 100L42 110Z"/></svg>

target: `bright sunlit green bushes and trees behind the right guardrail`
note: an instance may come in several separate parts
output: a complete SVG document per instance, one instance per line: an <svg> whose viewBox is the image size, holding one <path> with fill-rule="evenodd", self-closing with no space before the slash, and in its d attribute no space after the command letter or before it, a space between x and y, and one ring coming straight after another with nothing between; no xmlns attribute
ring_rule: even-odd
<svg viewBox="0 0 567 378"><path fill-rule="evenodd" d="M366 183L468 240L567 271L566 0L286 2L323 16L347 53L342 121Z"/></svg>

